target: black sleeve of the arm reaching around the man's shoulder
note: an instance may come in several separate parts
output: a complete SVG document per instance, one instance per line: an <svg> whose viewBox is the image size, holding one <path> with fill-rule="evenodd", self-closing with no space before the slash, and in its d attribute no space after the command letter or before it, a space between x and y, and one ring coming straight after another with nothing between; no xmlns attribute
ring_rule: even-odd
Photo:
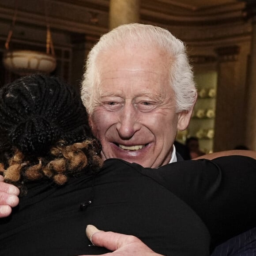
<svg viewBox="0 0 256 256"><path fill-rule="evenodd" d="M151 170L151 171L150 171ZM256 226L256 160L228 156L141 170L187 203L218 245Z"/></svg>

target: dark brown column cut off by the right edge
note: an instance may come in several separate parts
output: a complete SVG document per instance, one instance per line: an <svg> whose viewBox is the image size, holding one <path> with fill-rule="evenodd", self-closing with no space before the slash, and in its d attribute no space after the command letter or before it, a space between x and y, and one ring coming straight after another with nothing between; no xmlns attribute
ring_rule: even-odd
<svg viewBox="0 0 256 256"><path fill-rule="evenodd" d="M248 0L246 7L248 18L252 22L251 53L248 67L248 91L246 113L246 145L256 151L256 2Z"/></svg>

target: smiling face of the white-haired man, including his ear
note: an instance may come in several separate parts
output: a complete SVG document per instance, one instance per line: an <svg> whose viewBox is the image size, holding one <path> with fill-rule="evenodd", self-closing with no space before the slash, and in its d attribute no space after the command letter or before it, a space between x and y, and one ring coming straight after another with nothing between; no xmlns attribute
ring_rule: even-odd
<svg viewBox="0 0 256 256"><path fill-rule="evenodd" d="M144 167L170 161L177 128L191 113L175 113L169 58L152 49L118 49L99 57L101 84L90 116L102 143L102 158L121 158Z"/></svg>

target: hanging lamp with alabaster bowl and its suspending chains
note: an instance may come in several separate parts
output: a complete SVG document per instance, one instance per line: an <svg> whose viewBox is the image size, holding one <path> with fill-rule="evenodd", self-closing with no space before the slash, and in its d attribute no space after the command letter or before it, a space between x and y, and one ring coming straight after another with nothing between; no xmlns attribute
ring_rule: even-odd
<svg viewBox="0 0 256 256"><path fill-rule="evenodd" d="M45 0L46 1L46 0ZM45 3L45 22L46 22L46 52L32 50L11 50L9 42L13 34L13 27L17 19L18 8L16 5L12 19L12 24L5 42L4 67L18 75L28 75L32 73L49 74L56 68L56 57L53 48L53 41L48 21Z"/></svg>

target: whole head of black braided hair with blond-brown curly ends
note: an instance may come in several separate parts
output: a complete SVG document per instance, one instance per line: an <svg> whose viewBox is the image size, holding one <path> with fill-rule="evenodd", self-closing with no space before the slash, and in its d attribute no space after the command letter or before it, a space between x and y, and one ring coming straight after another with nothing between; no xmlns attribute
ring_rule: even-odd
<svg viewBox="0 0 256 256"><path fill-rule="evenodd" d="M28 75L1 88L0 141L0 171L19 188L41 178L64 184L102 166L78 91L53 76Z"/></svg>

